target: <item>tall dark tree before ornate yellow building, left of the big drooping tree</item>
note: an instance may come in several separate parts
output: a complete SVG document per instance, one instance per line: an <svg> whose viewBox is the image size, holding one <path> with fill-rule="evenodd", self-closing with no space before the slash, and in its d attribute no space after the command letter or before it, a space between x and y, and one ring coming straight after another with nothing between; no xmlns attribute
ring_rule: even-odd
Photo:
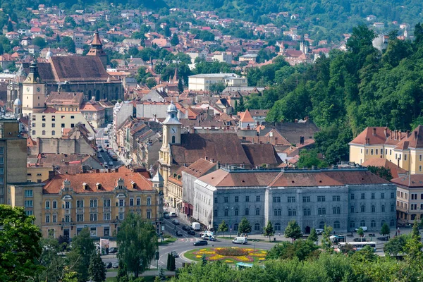
<svg viewBox="0 0 423 282"><path fill-rule="evenodd" d="M95 251L92 243L90 230L83 228L72 240L72 250L66 256L67 264L72 271L78 274L78 281L87 281L90 279L88 267L92 252Z"/></svg>

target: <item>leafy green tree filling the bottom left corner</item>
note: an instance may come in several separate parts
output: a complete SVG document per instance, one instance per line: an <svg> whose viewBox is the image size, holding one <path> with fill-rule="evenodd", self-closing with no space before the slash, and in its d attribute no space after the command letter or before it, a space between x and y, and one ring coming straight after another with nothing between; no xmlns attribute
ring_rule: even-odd
<svg viewBox="0 0 423 282"><path fill-rule="evenodd" d="M39 270L41 232L21 207L0 204L0 281L27 281Z"/></svg>

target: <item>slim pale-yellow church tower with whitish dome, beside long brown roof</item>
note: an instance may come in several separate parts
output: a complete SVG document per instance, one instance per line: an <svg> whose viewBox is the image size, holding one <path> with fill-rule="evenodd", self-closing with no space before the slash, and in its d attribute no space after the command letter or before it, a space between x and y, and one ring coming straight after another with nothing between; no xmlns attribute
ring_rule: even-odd
<svg viewBox="0 0 423 282"><path fill-rule="evenodd" d="M166 111L166 120L163 125L163 142L159 151L160 174L166 188L168 177L171 175L171 144L180 144L181 123L178 120L178 109L171 102ZM166 193L165 193L166 194Z"/></svg>

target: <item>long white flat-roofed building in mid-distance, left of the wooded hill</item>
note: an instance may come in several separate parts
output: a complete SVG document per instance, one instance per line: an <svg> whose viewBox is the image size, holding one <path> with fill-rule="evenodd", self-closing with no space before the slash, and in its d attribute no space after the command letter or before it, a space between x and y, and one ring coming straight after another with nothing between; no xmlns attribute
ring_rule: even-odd
<svg viewBox="0 0 423 282"><path fill-rule="evenodd" d="M209 90L211 85L223 83L226 86L247 87L247 78L242 78L235 73L205 73L190 75L188 77L189 90Z"/></svg>

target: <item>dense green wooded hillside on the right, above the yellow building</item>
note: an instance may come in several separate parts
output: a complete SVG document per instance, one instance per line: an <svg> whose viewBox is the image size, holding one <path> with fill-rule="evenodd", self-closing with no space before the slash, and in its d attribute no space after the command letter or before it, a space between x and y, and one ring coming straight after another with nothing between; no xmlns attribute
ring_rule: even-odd
<svg viewBox="0 0 423 282"><path fill-rule="evenodd" d="M271 107L271 122L312 118L323 129L317 146L329 163L348 159L348 142L367 126L411 130L423 124L423 25L416 26L414 42L391 33L383 54L372 47L373 38L361 25L348 51L333 50L308 66L276 61L251 69L249 82L274 86L250 97L246 106Z"/></svg>

